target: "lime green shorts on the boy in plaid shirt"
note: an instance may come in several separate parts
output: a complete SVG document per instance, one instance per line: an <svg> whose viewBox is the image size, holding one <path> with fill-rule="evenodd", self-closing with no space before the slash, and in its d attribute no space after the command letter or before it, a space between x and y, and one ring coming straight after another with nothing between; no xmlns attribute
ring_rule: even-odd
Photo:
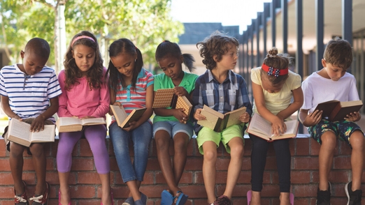
<svg viewBox="0 0 365 205"><path fill-rule="evenodd" d="M196 136L196 142L198 143L199 152L203 155L203 143L207 141L212 141L217 144L217 147L220 146L220 142L224 145L227 153L231 153L231 149L228 146L228 142L234 137L240 137L243 140L243 128L245 128L245 124L230 126L222 130L222 132L215 132L210 128L201 128Z"/></svg>

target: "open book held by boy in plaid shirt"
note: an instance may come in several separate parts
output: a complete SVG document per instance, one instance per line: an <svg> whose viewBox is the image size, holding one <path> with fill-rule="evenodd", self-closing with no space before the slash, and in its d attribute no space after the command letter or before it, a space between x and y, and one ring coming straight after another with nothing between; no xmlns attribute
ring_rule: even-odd
<svg viewBox="0 0 365 205"><path fill-rule="evenodd" d="M229 126L241 124L242 122L239 120L239 118L241 114L244 114L245 112L246 107L241 107L231 112L222 114L204 105L200 114L206 116L206 119L200 120L197 123L203 127L210 128L215 132L222 132L222 130L228 128Z"/></svg>

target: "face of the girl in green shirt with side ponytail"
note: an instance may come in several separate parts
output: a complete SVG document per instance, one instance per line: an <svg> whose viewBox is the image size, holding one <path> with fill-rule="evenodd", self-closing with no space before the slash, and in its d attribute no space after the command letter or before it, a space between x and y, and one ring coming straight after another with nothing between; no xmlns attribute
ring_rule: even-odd
<svg viewBox="0 0 365 205"><path fill-rule="evenodd" d="M157 61L157 63L162 71L164 71L165 75L171 77L171 79L179 79L183 73L183 68L181 66L183 63L183 56L180 56L180 58L166 56Z"/></svg>

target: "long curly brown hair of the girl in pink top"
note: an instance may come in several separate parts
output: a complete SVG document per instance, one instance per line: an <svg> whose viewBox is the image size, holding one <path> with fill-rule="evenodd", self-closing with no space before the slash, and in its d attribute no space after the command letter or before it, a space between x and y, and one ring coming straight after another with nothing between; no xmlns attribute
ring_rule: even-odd
<svg viewBox="0 0 365 205"><path fill-rule="evenodd" d="M79 38L75 42L74 40L78 36L89 36L90 38L94 39L91 40L89 38ZM72 86L75 84L80 84L78 79L83 77L83 73L76 65L76 61L73 58L72 51L78 45L85 45L87 47L91 47L95 51L95 61L94 64L91 66L89 70L87 70L86 77L87 82L89 83L90 90L99 89L101 84L104 83L103 81L103 59L101 59L101 53L99 50L99 45L97 42L96 37L90 31L81 31L73 36L69 48L64 57L64 72L66 74L65 79L65 89L70 90Z"/></svg>

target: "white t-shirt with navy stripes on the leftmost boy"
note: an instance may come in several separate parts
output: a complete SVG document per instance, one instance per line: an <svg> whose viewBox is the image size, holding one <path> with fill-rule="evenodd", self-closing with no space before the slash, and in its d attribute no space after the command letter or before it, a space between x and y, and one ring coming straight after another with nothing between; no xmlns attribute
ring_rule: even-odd
<svg viewBox="0 0 365 205"><path fill-rule="evenodd" d="M16 64L0 70L0 95L8 96L10 109L22 119L36 118L61 93L55 70L47 66L35 75L23 73Z"/></svg>

